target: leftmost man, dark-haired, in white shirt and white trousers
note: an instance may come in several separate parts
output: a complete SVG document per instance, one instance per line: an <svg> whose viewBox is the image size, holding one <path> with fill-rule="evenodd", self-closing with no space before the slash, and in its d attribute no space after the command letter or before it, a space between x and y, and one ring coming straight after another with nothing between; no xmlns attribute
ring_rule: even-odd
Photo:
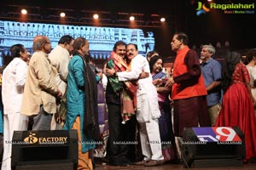
<svg viewBox="0 0 256 170"><path fill-rule="evenodd" d="M27 50L21 44L10 48L15 57L3 70L3 164L2 169L11 169L12 138L14 131L27 130L28 117L20 114L21 101L26 82L29 60Z"/></svg>

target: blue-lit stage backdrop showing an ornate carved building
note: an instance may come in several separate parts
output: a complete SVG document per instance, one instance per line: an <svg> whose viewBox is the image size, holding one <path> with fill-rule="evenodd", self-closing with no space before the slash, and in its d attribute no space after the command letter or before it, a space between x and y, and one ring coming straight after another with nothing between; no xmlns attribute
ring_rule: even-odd
<svg viewBox="0 0 256 170"><path fill-rule="evenodd" d="M94 59L108 58L113 49L113 44L119 40L126 43L136 43L139 54L145 55L148 51L154 49L153 31L143 32L141 29L0 20L0 66L3 65L3 56L9 55L9 48L15 43L23 44L32 54L32 39L37 35L49 37L52 48L55 48L64 35L70 35L74 38L84 37L90 42L90 55Z"/></svg>

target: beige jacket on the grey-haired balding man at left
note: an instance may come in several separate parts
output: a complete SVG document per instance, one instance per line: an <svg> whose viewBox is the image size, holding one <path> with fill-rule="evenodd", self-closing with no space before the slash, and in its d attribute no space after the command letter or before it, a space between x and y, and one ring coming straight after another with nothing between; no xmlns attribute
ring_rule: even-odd
<svg viewBox="0 0 256 170"><path fill-rule="evenodd" d="M40 105L49 114L55 113L57 90L55 71L49 63L48 54L35 52L28 66L20 113L27 116L38 115Z"/></svg>

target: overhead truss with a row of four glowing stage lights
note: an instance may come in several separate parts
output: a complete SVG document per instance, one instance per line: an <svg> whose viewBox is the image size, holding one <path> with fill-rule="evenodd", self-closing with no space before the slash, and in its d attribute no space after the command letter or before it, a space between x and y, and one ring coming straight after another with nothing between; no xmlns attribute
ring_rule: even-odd
<svg viewBox="0 0 256 170"><path fill-rule="evenodd" d="M61 10L60 8L42 8L38 7L17 7L11 6L11 9L7 9L7 12L0 14L13 18L14 20L21 17L22 20L28 21L50 21L55 22L56 18L65 21L65 24L84 24L86 22L89 25L95 26L95 22L99 22L99 26L131 26L131 23L137 24L140 27L162 27L163 21L160 21L160 14L137 14L137 13L125 13L125 12L108 12L108 11L89 11L83 10L81 13L77 13L73 9ZM21 10L22 9L22 10ZM64 12L65 11L65 12ZM66 13L67 16L66 16ZM100 18L101 17L101 18ZM167 17L167 16L165 16ZM166 19L167 20L167 19ZM165 20L165 22L166 22ZM59 20L57 20L59 22Z"/></svg>

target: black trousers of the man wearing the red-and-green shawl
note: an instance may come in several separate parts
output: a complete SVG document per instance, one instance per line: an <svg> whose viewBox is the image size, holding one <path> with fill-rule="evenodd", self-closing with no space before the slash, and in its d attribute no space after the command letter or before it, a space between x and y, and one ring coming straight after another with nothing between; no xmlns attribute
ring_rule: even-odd
<svg viewBox="0 0 256 170"><path fill-rule="evenodd" d="M122 160L135 156L130 144L135 140L136 122L135 116L130 121L122 124L120 105L108 104L108 128L109 138L107 145L108 160L112 163L120 163ZM134 152L134 154L132 154Z"/></svg>

